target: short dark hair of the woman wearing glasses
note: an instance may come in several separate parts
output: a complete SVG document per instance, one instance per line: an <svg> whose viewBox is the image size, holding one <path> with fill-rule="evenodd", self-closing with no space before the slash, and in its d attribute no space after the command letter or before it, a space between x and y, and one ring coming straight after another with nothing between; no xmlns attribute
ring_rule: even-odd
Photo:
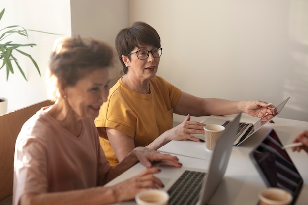
<svg viewBox="0 0 308 205"><path fill-rule="evenodd" d="M127 56L135 47L154 46L160 48L160 37L157 31L145 22L134 22L131 27L120 30L116 36L116 49L123 65L123 72L127 73L127 67L121 56ZM130 56L128 56L130 59Z"/></svg>

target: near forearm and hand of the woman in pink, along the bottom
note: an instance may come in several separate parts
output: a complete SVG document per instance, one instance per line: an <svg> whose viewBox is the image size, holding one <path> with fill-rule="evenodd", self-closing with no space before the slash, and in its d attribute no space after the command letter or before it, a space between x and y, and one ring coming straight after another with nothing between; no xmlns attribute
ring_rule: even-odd
<svg viewBox="0 0 308 205"><path fill-rule="evenodd" d="M129 178L114 186L98 186L61 192L24 193L20 205L107 205L131 200L135 195L149 188L163 187L162 182L154 176L157 168L146 169L139 175Z"/></svg>

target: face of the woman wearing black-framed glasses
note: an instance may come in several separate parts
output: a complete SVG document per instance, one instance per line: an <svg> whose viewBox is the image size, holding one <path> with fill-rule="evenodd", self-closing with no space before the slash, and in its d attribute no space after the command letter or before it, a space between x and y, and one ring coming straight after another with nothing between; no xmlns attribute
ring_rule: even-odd
<svg viewBox="0 0 308 205"><path fill-rule="evenodd" d="M151 51L153 46L140 46L136 47L131 53L136 52L140 49L146 49ZM160 58L154 58L152 53L149 53L149 57L144 60L140 60L137 54L131 54L130 59L128 56L122 56L123 62L128 66L128 71L126 75L129 75L137 81L144 81L153 78L158 70L158 65Z"/></svg>

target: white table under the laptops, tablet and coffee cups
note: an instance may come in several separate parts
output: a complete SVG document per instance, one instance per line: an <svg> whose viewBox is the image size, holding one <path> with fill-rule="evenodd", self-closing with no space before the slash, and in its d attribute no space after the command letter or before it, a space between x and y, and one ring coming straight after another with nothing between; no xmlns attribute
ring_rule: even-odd
<svg viewBox="0 0 308 205"><path fill-rule="evenodd" d="M229 117L229 116L227 116ZM243 115L243 120L247 116ZM249 118L249 116L248 116ZM198 119L198 118L197 118ZM242 120L242 119L241 119ZM200 121L200 120L199 120ZM266 124L245 142L234 146L224 179L219 184L209 204L211 205L256 205L259 190L265 188L262 178L252 164L249 153L263 138L267 131L274 128L282 144L291 143L294 137L304 129L308 129L308 122L275 118L275 124ZM192 141L171 141L159 149L179 157L185 167L199 168L200 164L209 164L211 152L205 150L205 143ZM308 155L302 151L288 153L304 179L303 189L296 205L308 204ZM115 178L108 185L116 184L141 172L145 167L140 163ZM132 202L132 204L135 204Z"/></svg>

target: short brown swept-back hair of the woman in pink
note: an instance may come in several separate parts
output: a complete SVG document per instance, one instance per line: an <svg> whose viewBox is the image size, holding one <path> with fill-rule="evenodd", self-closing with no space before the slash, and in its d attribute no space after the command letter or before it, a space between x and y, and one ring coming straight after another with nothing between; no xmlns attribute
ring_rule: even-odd
<svg viewBox="0 0 308 205"><path fill-rule="evenodd" d="M60 79L67 86L74 86L86 73L109 68L112 64L113 51L105 42L81 36L64 37L59 39L51 53L49 77L56 78L56 85L52 85L56 88L53 89L59 87Z"/></svg>

